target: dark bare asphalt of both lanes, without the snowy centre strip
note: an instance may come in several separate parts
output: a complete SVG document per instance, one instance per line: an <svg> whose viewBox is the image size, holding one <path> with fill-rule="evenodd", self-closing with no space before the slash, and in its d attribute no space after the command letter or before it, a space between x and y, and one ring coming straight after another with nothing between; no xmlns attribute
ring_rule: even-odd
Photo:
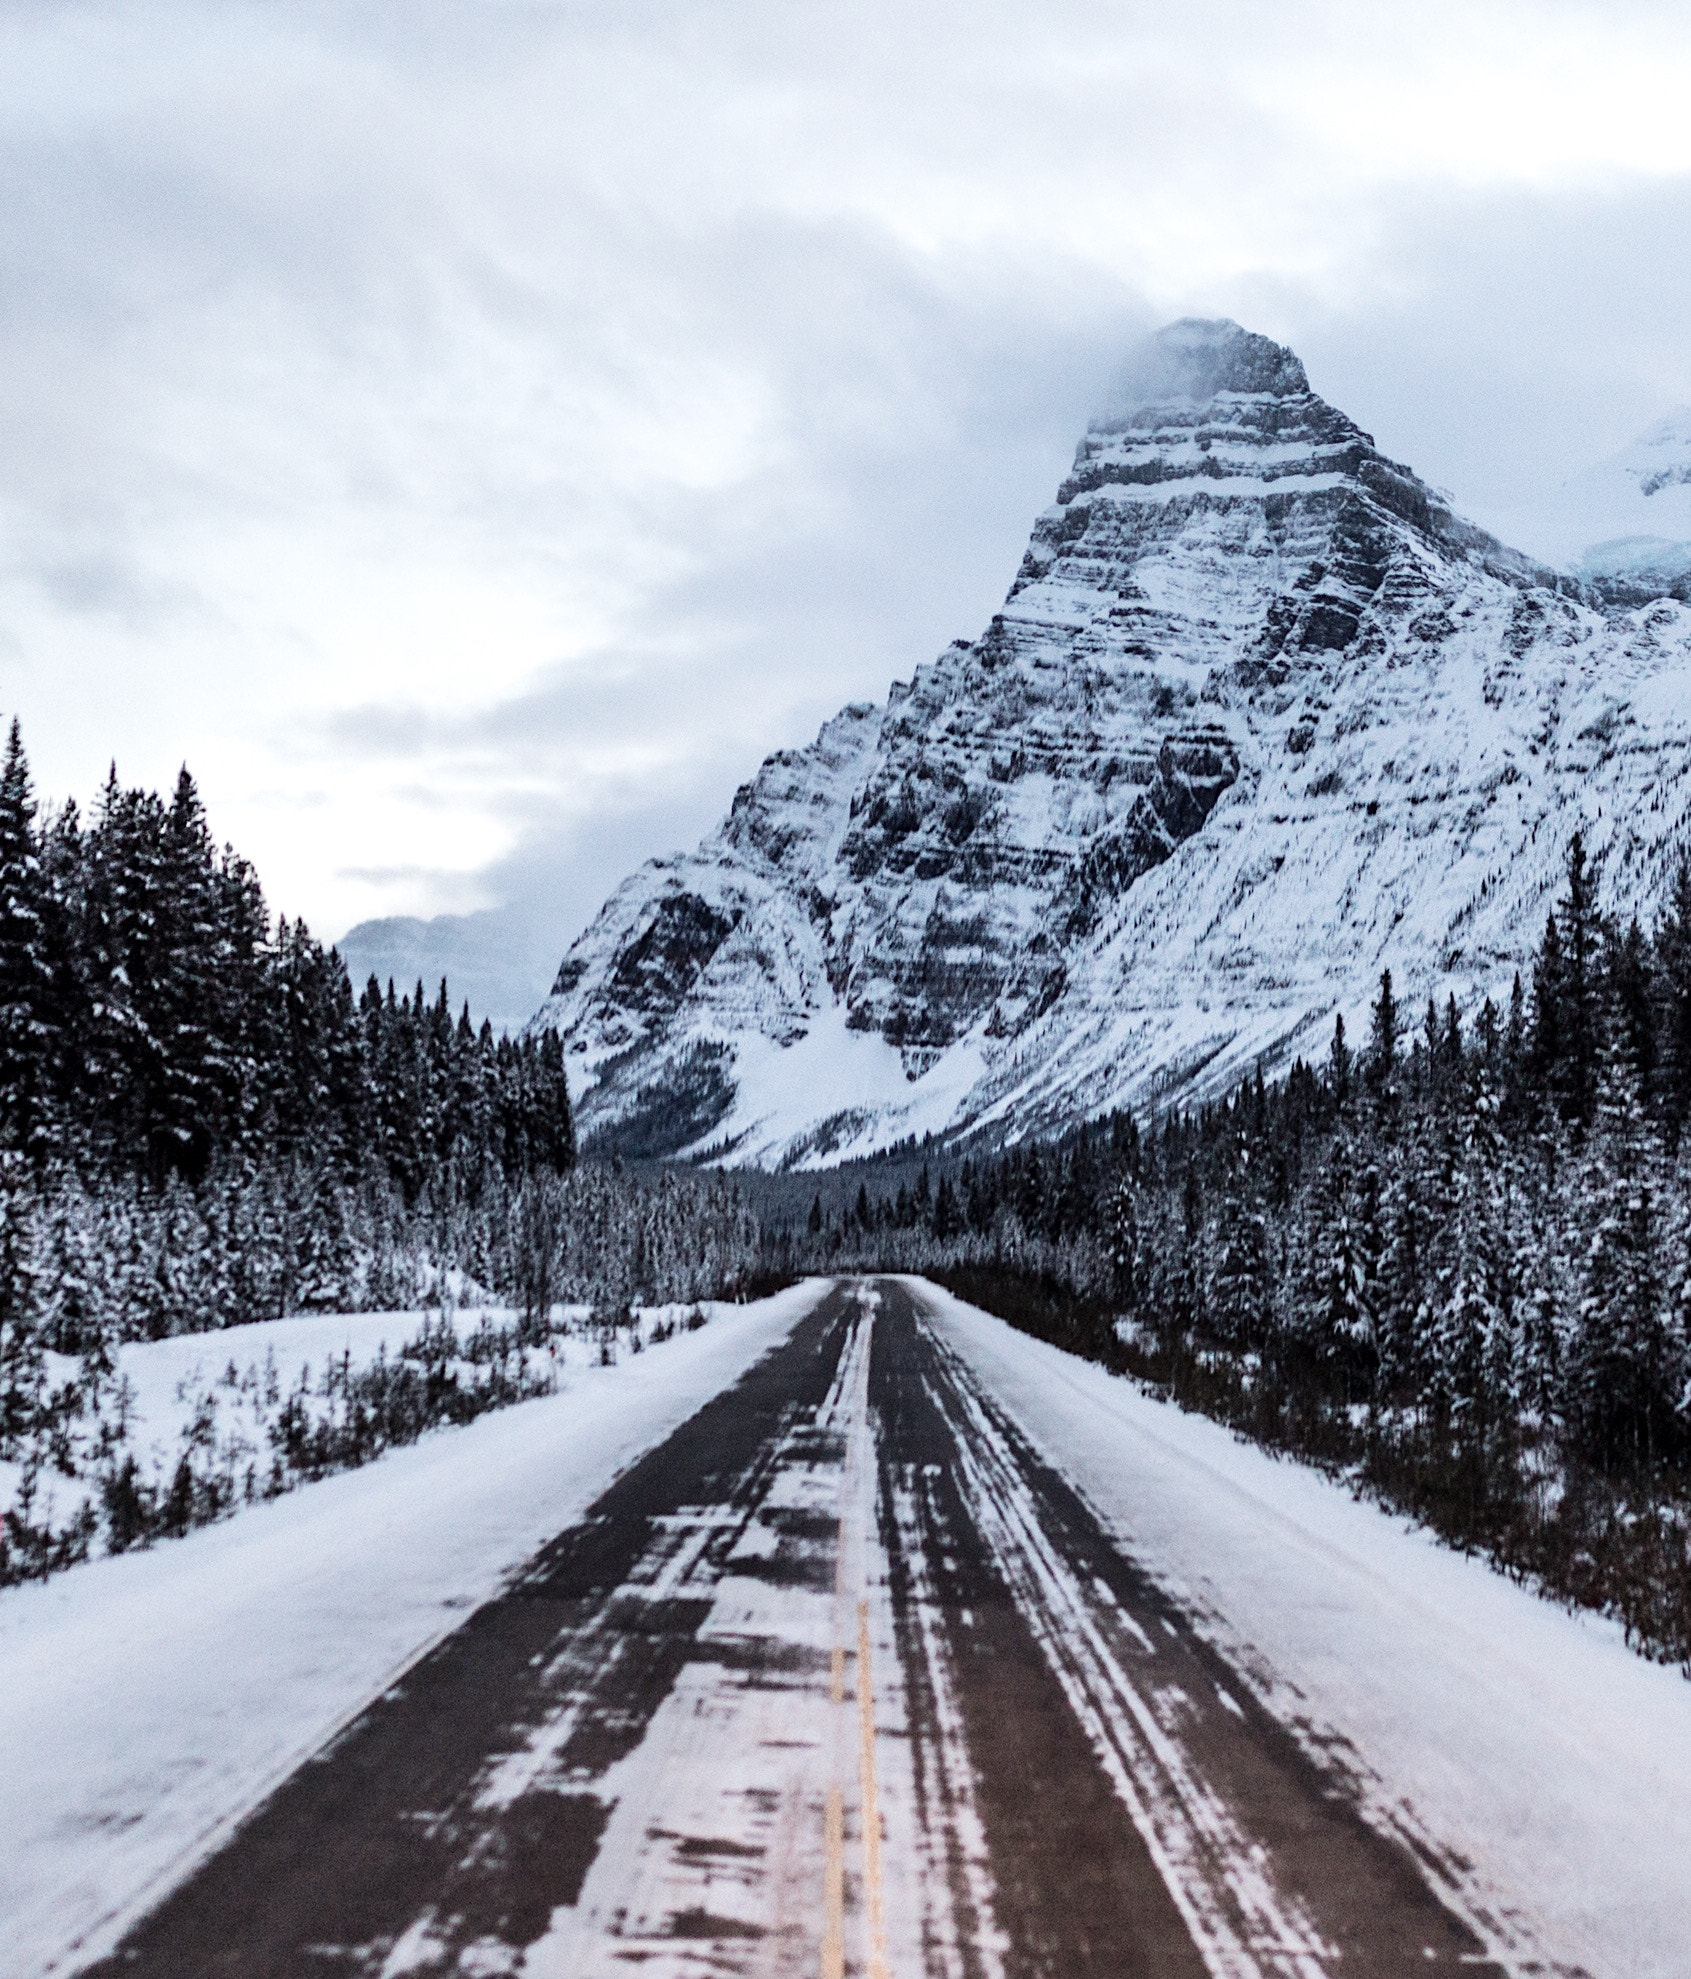
<svg viewBox="0 0 1691 1979"><path fill-rule="evenodd" d="M917 1298L897 1280L875 1290L877 1548L913 1811L948 1837L927 1860L950 1884L956 1926L921 1955L923 1979L1501 1975L1438 1866L1362 1819L978 1391ZM806 1437L840 1441L810 1425L857 1310L855 1286L836 1286L89 1973L523 1971L600 1852L612 1805L596 1783L642 1743L691 1660L723 1658L699 1631L723 1575L746 1571L745 1550L733 1567L731 1555L778 1468ZM832 1534L800 1512L770 1524L760 1577L814 1585ZM489 1779L509 1781L533 1751L545 1763L529 1775L519 1763L515 1789L489 1797ZM958 1769L974 1844L954 1821ZM707 1837L687 1850L745 1844ZM901 1868L913 1872L889 1858L887 1876ZM822 1910L818 1888L810 1945ZM669 1932L701 1973L774 1955L776 1939L760 1945L745 1920L683 1910ZM792 1965L792 1935L780 1943L782 1971L818 1971L816 1949ZM489 1961L489 1947L503 1955ZM602 1971L638 1971L628 1955L606 1943Z"/></svg>

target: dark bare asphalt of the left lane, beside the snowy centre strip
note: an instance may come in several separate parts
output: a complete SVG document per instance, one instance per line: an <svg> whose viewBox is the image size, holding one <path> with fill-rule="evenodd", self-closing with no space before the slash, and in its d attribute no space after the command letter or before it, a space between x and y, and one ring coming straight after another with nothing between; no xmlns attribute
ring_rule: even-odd
<svg viewBox="0 0 1691 1979"><path fill-rule="evenodd" d="M776 1449L828 1393L847 1306L824 1298L624 1472L91 1973L380 1973L422 1916L436 1971L487 1939L539 1939L598 1854L610 1809L592 1781L640 1743L685 1666ZM580 1787L483 1805L489 1769L547 1726L562 1726L547 1777Z"/></svg>

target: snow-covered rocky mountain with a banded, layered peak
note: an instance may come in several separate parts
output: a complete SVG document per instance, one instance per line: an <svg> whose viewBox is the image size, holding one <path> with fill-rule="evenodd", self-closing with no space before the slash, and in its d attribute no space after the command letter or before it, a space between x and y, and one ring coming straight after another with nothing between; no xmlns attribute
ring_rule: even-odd
<svg viewBox="0 0 1691 1979"><path fill-rule="evenodd" d="M1576 827L1659 896L1687 770L1685 604L1505 548L1289 350L1184 321L986 631L628 879L535 1021L628 1148L1014 1138L1319 1051L1382 966L1507 995Z"/></svg>

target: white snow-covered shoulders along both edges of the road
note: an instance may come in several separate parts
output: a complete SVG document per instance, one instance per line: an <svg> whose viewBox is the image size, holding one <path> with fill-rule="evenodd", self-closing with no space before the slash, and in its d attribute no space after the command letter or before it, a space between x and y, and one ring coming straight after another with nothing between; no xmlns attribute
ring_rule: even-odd
<svg viewBox="0 0 1691 1979"><path fill-rule="evenodd" d="M739 1377L820 1286L152 1552L0 1595L0 1975L73 1971ZM1592 1979L1691 1969L1691 1684L1293 1462L921 1284L1242 1680L1471 1908ZM1542 1971L1533 1951L1519 1971Z"/></svg>

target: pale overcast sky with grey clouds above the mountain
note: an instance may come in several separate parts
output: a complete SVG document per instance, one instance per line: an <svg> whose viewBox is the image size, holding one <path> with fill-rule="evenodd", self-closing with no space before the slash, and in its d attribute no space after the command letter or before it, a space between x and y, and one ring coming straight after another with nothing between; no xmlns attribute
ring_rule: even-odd
<svg viewBox="0 0 1691 1979"><path fill-rule="evenodd" d="M1687 103L1624 0L8 0L0 705L560 952L982 627L1160 321L1529 530L1691 400Z"/></svg>

